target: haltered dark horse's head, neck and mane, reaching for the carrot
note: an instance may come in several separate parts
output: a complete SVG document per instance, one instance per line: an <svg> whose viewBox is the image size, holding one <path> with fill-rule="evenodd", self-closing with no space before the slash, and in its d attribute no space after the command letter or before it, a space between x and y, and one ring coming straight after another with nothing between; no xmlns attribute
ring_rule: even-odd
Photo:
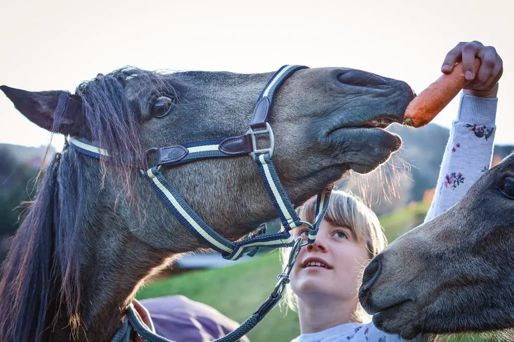
<svg viewBox="0 0 514 342"><path fill-rule="evenodd" d="M65 146L46 168L4 263L1 338L108 340L144 279L173 256L205 249L139 174L148 166L144 151L244 134L272 74L123 68L74 94L2 86L30 121L96 141L114 161ZM388 160L401 141L383 128L402 122L413 96L406 83L354 69L291 75L270 118L274 165L291 201L301 204L351 168L367 173ZM251 158L163 174L228 239L277 216Z"/></svg>

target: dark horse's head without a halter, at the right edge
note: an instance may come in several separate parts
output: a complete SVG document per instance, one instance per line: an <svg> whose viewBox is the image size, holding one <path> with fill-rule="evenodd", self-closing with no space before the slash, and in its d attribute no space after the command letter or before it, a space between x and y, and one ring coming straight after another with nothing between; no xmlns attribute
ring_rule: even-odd
<svg viewBox="0 0 514 342"><path fill-rule="evenodd" d="M511 155L446 212L378 254L364 271L359 298L377 327L407 338L504 334L514 328L513 260Z"/></svg>

